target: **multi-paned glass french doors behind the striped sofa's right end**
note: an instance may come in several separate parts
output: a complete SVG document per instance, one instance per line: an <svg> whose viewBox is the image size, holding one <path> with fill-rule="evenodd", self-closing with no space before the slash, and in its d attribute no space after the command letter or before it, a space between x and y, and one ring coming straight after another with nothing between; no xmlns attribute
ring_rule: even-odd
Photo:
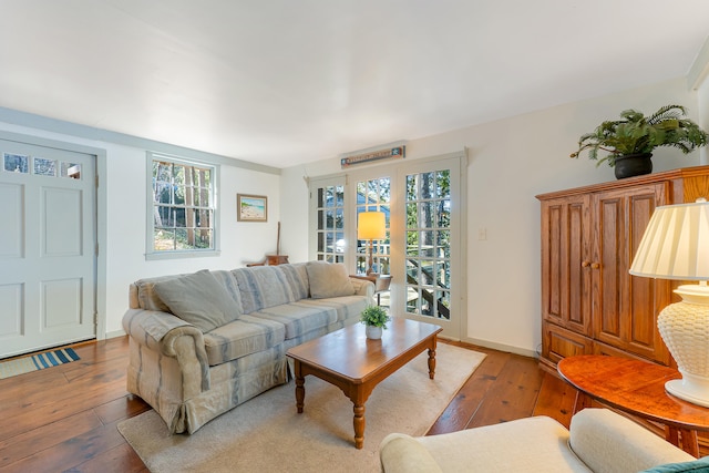
<svg viewBox="0 0 709 473"><path fill-rule="evenodd" d="M372 241L374 271L392 276L381 305L461 339L466 327L465 165L461 153L312 179L310 257L364 273L369 241L357 239L357 216L384 213L387 237Z"/></svg>

